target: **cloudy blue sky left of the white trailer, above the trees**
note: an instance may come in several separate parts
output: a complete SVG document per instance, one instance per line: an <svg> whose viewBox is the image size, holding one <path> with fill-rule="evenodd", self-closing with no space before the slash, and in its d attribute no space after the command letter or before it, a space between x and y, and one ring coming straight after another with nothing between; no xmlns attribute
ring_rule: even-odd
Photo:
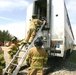
<svg viewBox="0 0 76 75"><path fill-rule="evenodd" d="M0 0L0 30L25 38L26 10L33 0Z"/></svg>

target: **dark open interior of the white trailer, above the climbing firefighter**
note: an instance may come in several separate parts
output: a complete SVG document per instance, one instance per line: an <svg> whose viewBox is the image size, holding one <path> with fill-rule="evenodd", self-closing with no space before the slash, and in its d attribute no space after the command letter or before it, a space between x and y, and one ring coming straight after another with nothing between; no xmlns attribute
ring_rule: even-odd
<svg viewBox="0 0 76 75"><path fill-rule="evenodd" d="M47 0L37 0L34 4L34 14L38 16L39 19L42 17L46 18L47 14Z"/></svg>

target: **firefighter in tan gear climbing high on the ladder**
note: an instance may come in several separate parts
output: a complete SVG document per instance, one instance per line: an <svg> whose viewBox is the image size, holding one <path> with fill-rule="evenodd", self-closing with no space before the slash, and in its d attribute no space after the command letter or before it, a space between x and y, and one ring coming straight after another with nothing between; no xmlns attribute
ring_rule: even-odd
<svg viewBox="0 0 76 75"><path fill-rule="evenodd" d="M30 44L35 37L37 25L42 25L43 21L37 19L37 16L32 15L32 20L30 21L29 31L27 33L27 37L22 43Z"/></svg>

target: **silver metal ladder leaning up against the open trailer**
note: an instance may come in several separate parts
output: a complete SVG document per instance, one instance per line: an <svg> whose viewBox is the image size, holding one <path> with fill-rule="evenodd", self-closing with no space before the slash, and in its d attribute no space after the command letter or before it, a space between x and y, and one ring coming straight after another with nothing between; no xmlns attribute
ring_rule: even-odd
<svg viewBox="0 0 76 75"><path fill-rule="evenodd" d="M43 25L41 25L40 29L37 31L36 33L36 36L34 38L34 40L32 41L32 43L28 46L27 49L25 50L22 50L22 48L25 46L24 44L21 46L21 48L17 51L17 53L14 55L13 59L11 60L11 62L8 64L8 66L4 69L3 71L3 75L6 75L6 74L9 74L9 75L17 75L25 58L26 58L26 55L29 51L29 49L34 45L34 41L38 38L39 36L39 33L42 31L44 25L45 25L46 21L43 22ZM24 52L24 55L22 57L19 57L19 53L20 52ZM18 64L14 64L14 61L16 58L20 58L20 61L18 62ZM8 72L8 69L11 67L11 65L15 66L15 69L12 73L9 73Z"/></svg>

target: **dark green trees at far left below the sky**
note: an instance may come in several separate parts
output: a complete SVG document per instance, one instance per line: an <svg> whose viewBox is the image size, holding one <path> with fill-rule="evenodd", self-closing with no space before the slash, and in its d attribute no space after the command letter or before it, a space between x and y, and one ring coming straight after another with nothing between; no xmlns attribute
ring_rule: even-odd
<svg viewBox="0 0 76 75"><path fill-rule="evenodd" d="M12 36L8 32L8 30L7 31L5 31L5 30L1 31L0 30L0 41L1 42L4 42L5 40L10 41L11 38L12 38Z"/></svg>

